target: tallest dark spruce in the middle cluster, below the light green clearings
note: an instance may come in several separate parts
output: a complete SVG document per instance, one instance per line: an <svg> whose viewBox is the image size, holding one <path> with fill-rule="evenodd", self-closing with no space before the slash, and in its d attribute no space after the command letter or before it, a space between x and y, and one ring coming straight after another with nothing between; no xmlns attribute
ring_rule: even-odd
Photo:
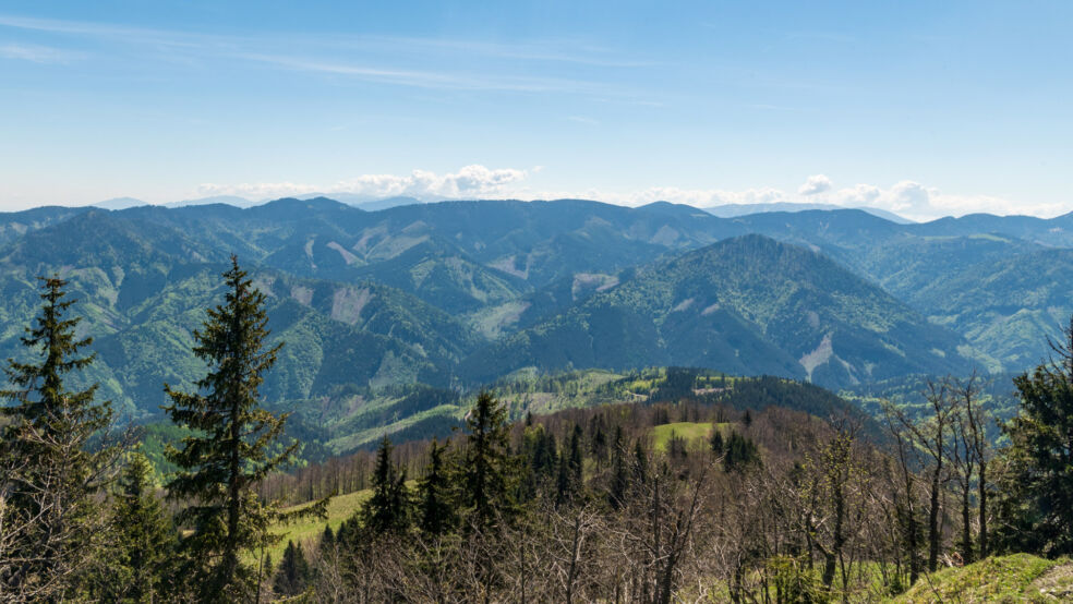
<svg viewBox="0 0 1073 604"><path fill-rule="evenodd" d="M483 390L467 420L469 435L461 468L462 504L479 527L515 509L514 460L509 455L507 410Z"/></svg>

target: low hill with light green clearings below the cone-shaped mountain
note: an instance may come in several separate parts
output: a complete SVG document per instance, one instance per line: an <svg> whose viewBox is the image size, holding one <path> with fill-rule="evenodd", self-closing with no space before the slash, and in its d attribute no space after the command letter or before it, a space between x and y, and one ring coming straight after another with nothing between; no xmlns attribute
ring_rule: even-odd
<svg viewBox="0 0 1073 604"><path fill-rule="evenodd" d="M688 400L753 411L783 407L821 419L852 416L869 434L880 432L855 404L823 388L775 377L734 377L711 370L650 367L554 375L525 371L486 386L516 421L565 409ZM461 425L479 390L459 394L426 385L350 388L337 392L329 402L299 407L296 419L310 426L308 435L327 451L341 455L371 448L385 435L397 443L449 437Z"/></svg>

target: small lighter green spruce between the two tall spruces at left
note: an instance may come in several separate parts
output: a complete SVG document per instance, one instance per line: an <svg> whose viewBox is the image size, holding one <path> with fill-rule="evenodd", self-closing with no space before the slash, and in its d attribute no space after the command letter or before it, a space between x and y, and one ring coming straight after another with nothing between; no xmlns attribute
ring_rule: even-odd
<svg viewBox="0 0 1073 604"><path fill-rule="evenodd" d="M154 493L152 468L141 451L129 455L112 504L116 545L95 596L107 602L155 602L167 589L176 546L170 517Z"/></svg>

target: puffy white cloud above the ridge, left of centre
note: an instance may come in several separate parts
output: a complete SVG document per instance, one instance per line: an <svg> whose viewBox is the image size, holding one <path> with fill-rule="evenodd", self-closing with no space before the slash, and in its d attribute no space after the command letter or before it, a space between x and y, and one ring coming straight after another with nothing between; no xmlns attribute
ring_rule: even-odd
<svg viewBox="0 0 1073 604"><path fill-rule="evenodd" d="M296 182L217 184L198 186L198 195L239 195L253 200L306 195L310 193L348 193L369 198L410 196L422 201L449 198L503 197L509 188L528 177L527 170L515 168L492 169L484 166L466 166L454 173L437 174L426 170L413 170L408 176L362 174L334 184L320 185Z"/></svg>

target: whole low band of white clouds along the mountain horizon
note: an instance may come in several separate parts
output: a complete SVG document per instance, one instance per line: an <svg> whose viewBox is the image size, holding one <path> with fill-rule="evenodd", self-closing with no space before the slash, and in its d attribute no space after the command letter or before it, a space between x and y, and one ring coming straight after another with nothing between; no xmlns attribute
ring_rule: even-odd
<svg viewBox="0 0 1073 604"><path fill-rule="evenodd" d="M387 197L413 197L421 202L579 198L631 207L654 202L671 202L700 208L728 204L810 203L885 209L912 220L931 220L943 216L962 216L973 213L1053 217L1069 212L1069 208L1059 204L1026 205L988 195L951 194L909 180L900 181L887 188L873 184L836 188L828 176L812 174L797 189L796 194L775 188L727 191L720 189L690 190L675 186L653 186L623 193L598 189L547 191L529 185L528 181L542 171L542 167L492 169L472 165L465 166L456 172L443 174L427 170L413 170L410 174L403 176L362 174L331 184L294 182L204 183L197 188L196 193L202 197L238 196L252 201L312 194L323 194L328 197L334 194L341 194L367 201Z"/></svg>

